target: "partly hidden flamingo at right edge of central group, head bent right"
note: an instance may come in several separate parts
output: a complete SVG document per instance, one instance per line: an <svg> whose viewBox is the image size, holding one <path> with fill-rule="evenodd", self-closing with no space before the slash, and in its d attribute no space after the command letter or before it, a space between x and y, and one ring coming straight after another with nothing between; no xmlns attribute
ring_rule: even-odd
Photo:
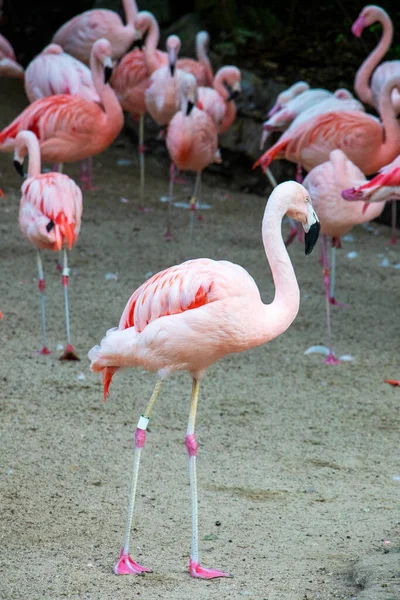
<svg viewBox="0 0 400 600"><path fill-rule="evenodd" d="M240 71L236 67L226 66L219 69L213 81L213 87L199 87L198 107L204 110L214 121L218 133L224 133L236 117L236 106L231 99L240 92Z"/></svg>

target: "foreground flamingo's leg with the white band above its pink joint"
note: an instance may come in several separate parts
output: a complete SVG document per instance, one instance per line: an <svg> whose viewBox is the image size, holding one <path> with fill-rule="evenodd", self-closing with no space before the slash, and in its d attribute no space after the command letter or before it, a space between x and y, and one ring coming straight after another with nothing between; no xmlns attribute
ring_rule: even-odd
<svg viewBox="0 0 400 600"><path fill-rule="evenodd" d="M131 531L132 531L132 518L133 518L133 509L135 506L135 498L136 498L136 489L137 489L137 480L139 475L139 465L140 465L140 454L142 452L142 448L146 442L146 429L150 419L151 412L153 410L154 404L158 398L158 395L161 391L163 381L159 379L155 385L152 396L149 400L149 403L144 411L144 414L141 415L138 425L135 431L135 449L133 453L133 467L132 467L132 481L131 481L131 493L129 498L129 507L128 507L128 515L126 519L126 528L125 528L125 541L124 546L121 550L121 554L117 564L114 567L114 573L116 575L143 575L144 573L151 573L151 570L147 567L143 567L135 562L129 555L129 543L131 539Z"/></svg>

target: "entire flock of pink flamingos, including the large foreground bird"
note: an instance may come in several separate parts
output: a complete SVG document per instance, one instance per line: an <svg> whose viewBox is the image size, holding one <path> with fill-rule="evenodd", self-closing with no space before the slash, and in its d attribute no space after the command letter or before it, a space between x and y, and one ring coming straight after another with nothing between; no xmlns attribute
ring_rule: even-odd
<svg viewBox="0 0 400 600"><path fill-rule="evenodd" d="M143 201L144 115L149 113L164 128L171 158L169 200L177 171L194 171L194 210L201 172L220 160L218 135L234 121L234 100L240 93L239 69L225 66L214 75L206 32L197 36L197 60L179 59L177 36L168 38L167 52L158 50L159 27L154 16L138 12L134 0L123 0L123 5L126 25L113 11L82 13L55 33L52 43L25 71L8 42L0 38L0 74L24 78L31 103L0 132L0 150L14 153L21 175L24 158L29 156L19 224L37 249L44 354L49 351L41 251L50 249L63 255L65 359L77 359L70 339L67 250L79 234L82 192L61 172L62 164L82 161L82 184L90 188L91 159L118 136L125 110L139 118L138 196ZM109 330L89 352L91 369L103 374L105 397L114 373L122 367L140 366L158 374L135 433L131 495L124 546L114 569L117 574L149 571L129 553L140 454L163 380L176 370L185 370L193 380L185 438L192 508L189 570L193 577L206 579L228 575L199 562L194 433L199 382L207 368L226 354L264 344L290 326L299 309L299 288L286 245L304 236L309 254L320 229L329 334L325 362L338 362L329 319L330 305L336 303L335 250L354 225L378 216L385 201L400 198L400 61L380 62L392 41L392 23L382 8L369 5L354 22L352 32L359 37L376 22L382 25L381 40L358 70L354 87L359 99L378 116L366 113L362 102L347 90L331 93L298 82L278 96L263 125L262 145L271 132L282 135L255 167L260 166L273 181L269 171L273 160L284 158L298 164L297 182L274 184L262 221L263 244L275 284L273 302L263 304L256 283L241 266L208 258L189 260L143 283L129 299L118 327ZM145 34L144 47L130 50ZM58 169L41 173L41 160L57 164ZM300 183L302 169L308 174ZM367 175L375 177L368 181ZM284 215L293 222L286 244L281 234Z"/></svg>

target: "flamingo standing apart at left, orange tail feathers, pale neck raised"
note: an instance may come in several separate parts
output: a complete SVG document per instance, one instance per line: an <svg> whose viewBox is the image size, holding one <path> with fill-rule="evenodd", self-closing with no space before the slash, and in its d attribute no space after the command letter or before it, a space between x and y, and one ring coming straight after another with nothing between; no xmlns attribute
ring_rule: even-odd
<svg viewBox="0 0 400 600"><path fill-rule="evenodd" d="M62 284L65 299L67 346L63 360L79 360L71 344L68 310L68 256L67 248L78 239L82 215L82 192L75 182L62 173L40 173L39 142L32 131L20 131L15 140L14 164L23 175L23 162L29 154L28 178L23 183L19 209L19 226L23 235L37 249L39 291L42 306L43 348L46 343L45 281L41 250L63 250Z"/></svg>

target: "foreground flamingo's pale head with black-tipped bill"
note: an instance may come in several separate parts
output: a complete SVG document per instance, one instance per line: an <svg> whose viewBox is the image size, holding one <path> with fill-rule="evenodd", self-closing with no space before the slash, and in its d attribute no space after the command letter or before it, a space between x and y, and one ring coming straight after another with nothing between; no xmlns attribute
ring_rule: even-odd
<svg viewBox="0 0 400 600"><path fill-rule="evenodd" d="M311 198L308 195L306 188L295 181L287 183L291 186L291 194L288 194L288 197L290 197L290 204L286 210L286 214L303 225L305 232L305 253L308 256L311 254L317 243L321 225L317 214L313 209Z"/></svg>

